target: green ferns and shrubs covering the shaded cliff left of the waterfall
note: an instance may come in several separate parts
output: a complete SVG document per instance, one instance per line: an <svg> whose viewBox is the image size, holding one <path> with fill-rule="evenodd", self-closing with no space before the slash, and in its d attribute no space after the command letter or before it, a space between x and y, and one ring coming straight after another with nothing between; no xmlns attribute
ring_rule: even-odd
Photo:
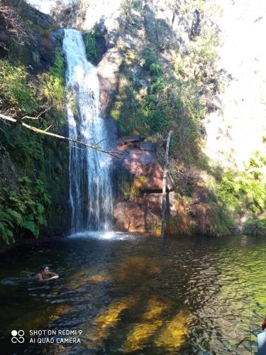
<svg viewBox="0 0 266 355"><path fill-rule="evenodd" d="M30 124L41 129L52 124L57 133L64 134L64 77L60 48L48 72L39 76L29 75L23 65L0 60L0 111L21 119L51 106ZM48 228L48 221L55 226L57 218L66 213L58 195L67 190L67 169L62 166L67 165L68 148L20 124L0 123L0 141L0 239L10 244L22 236L37 238Z"/></svg>

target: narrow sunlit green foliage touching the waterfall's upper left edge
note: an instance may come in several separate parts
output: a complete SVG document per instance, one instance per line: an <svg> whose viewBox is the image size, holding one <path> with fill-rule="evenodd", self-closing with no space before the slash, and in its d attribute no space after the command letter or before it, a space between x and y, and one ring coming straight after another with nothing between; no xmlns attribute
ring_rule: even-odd
<svg viewBox="0 0 266 355"><path fill-rule="evenodd" d="M50 104L58 110L65 108L65 62L62 50L57 48L55 51L55 60L48 73L43 75L43 89L45 97Z"/></svg>

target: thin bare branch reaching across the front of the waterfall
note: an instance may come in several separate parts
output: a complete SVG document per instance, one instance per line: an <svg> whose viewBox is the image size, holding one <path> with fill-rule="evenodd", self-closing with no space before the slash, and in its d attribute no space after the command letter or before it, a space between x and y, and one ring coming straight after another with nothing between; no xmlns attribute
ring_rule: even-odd
<svg viewBox="0 0 266 355"><path fill-rule="evenodd" d="M111 156L113 156L115 158L121 159L121 157L118 156L118 155L121 155L120 153L116 153L116 152L113 152L113 151L104 151L100 146L90 145L90 144L84 143L82 141L77 141L77 139L73 139L73 138L69 138L69 137L65 137L65 136L60 136L59 134L48 132L48 129L50 129L51 126L49 126L48 129L45 129L45 130L38 129L37 127L30 126L28 124L25 124L24 122L21 122L21 121L19 121L17 119L14 119L11 116L6 116L4 114L0 114L0 119L4 119L5 121L9 121L9 122L13 122L13 123L19 123L19 124L21 124L21 126L26 127L26 129L29 129L30 131L33 131L33 132L36 132L36 133L40 133L40 134L45 134L47 136L52 136L52 137L55 137L55 138L59 138L59 139L62 139L64 141L70 141L70 142L73 142L73 143L77 143L80 146L84 146L85 148L92 148L95 151L99 151L101 153L106 153L106 154L109 154L109 155L111 155Z"/></svg>

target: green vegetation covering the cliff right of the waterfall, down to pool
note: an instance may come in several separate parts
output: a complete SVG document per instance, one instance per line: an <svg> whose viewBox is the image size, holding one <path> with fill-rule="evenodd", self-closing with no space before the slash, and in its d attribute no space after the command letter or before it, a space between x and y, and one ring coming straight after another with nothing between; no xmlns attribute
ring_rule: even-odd
<svg viewBox="0 0 266 355"><path fill-rule="evenodd" d="M221 9L211 1L196 0L180 12L187 16L195 9L200 11L201 31L190 38L187 53L181 53L174 40L167 44L173 35L171 28L156 18L150 6L124 1L121 16L126 26L121 33L145 35L141 49L128 48L121 36L123 60L111 116L121 136L146 134L157 141L161 158L165 134L172 129L170 170L179 203L177 216L167 220L168 234L223 236L247 219L244 231L262 235L266 201L263 159L257 155L242 173L221 169L217 173L201 150L206 97L222 89L216 71L218 32L214 26L206 26L204 19ZM135 198L132 187L128 185L126 198Z"/></svg>

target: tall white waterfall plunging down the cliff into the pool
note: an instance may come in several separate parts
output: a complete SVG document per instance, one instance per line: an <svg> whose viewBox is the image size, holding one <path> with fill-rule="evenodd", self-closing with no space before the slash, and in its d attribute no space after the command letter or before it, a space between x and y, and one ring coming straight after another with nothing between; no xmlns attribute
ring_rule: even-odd
<svg viewBox="0 0 266 355"><path fill-rule="evenodd" d="M87 61L82 34L65 30L67 120L70 138L107 148L108 134L100 114L99 80ZM70 144L71 232L111 229L112 188L109 155Z"/></svg>

